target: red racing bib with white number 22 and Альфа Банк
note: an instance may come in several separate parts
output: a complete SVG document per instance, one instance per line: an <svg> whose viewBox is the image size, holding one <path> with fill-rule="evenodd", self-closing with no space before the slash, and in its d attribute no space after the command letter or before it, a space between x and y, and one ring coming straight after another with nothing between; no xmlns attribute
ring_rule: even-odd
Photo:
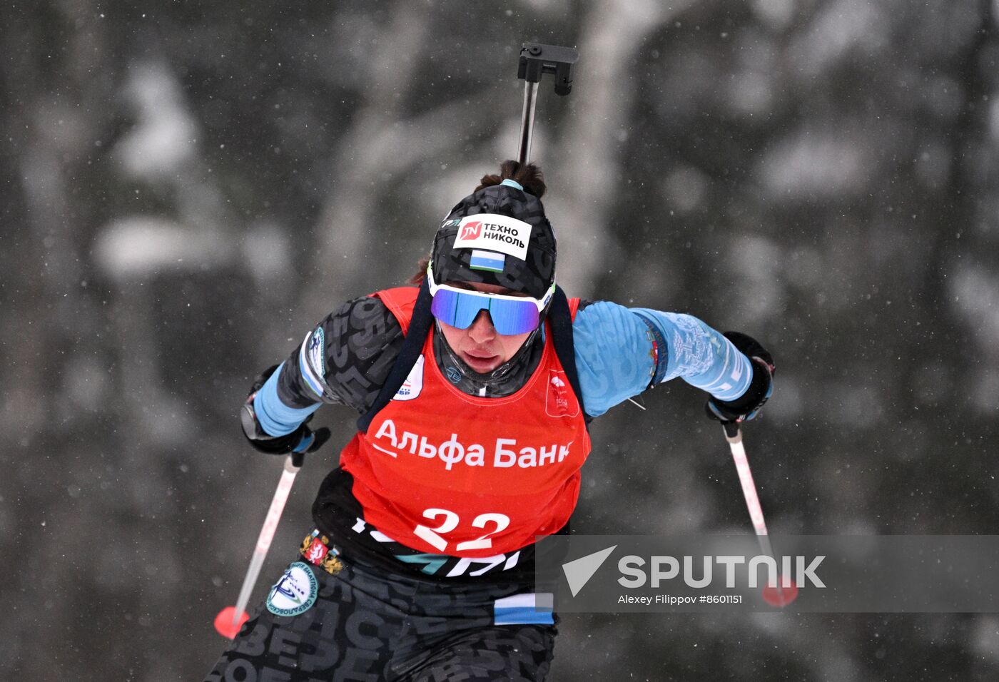
<svg viewBox="0 0 999 682"><path fill-rule="evenodd" d="M417 293L376 296L405 332ZM573 317L577 307L570 299ZM505 397L452 385L428 335L396 396L341 454L365 520L414 549L470 558L518 549L568 521L589 434L545 326L537 368Z"/></svg>

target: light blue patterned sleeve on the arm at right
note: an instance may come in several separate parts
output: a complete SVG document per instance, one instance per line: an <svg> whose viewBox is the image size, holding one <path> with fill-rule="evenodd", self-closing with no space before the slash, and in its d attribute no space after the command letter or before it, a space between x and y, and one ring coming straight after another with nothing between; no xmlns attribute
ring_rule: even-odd
<svg viewBox="0 0 999 682"><path fill-rule="evenodd" d="M731 400L745 392L752 376L745 355L688 315L601 301L576 314L572 339L579 388L591 416L677 376Z"/></svg>

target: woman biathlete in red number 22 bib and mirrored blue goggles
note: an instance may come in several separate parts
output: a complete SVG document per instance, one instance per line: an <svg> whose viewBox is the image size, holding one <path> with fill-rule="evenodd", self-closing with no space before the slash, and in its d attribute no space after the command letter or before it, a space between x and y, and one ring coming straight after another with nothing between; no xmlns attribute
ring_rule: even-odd
<svg viewBox="0 0 999 682"><path fill-rule="evenodd" d="M409 287L350 301L265 371L258 449L312 451L324 402L358 432L314 530L209 680L541 680L555 616L534 540L567 532L588 421L676 376L708 414L751 418L760 344L696 318L566 299L532 165L504 162L442 223Z"/></svg>

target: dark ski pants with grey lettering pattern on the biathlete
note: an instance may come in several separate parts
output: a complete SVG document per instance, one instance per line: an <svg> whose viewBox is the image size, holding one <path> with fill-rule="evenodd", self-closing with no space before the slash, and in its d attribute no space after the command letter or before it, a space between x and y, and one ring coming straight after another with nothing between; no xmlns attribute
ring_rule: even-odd
<svg viewBox="0 0 999 682"><path fill-rule="evenodd" d="M316 577L315 603L298 615L258 607L207 681L485 682L543 680L548 672L550 612L512 609L510 617L500 608L532 585L423 580L350 560L336 575L297 566L300 580L303 570Z"/></svg>

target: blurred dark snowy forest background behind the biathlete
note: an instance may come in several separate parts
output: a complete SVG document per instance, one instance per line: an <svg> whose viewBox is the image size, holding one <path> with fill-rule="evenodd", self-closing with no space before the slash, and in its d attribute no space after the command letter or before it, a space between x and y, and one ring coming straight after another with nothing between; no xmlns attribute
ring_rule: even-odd
<svg viewBox="0 0 999 682"><path fill-rule="evenodd" d="M999 532L990 0L0 6L0 679L200 679L280 475L251 377L400 284L515 153L523 41L570 295L778 365L773 533ZM593 425L578 532L751 532L677 381ZM256 594L355 415L299 475ZM993 589L985 586L983 589ZM566 616L552 679L988 680L999 616Z"/></svg>

